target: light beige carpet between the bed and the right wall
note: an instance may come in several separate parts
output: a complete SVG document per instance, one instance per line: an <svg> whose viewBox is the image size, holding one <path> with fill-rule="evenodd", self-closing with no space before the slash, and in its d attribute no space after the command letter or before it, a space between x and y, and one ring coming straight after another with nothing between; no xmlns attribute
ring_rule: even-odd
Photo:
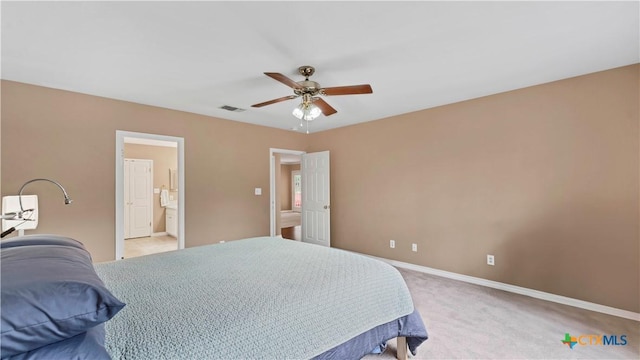
<svg viewBox="0 0 640 360"><path fill-rule="evenodd" d="M640 323L399 269L429 332L416 359L640 359ZM562 343L565 334L626 335L626 345ZM381 355L395 358L395 340Z"/></svg>

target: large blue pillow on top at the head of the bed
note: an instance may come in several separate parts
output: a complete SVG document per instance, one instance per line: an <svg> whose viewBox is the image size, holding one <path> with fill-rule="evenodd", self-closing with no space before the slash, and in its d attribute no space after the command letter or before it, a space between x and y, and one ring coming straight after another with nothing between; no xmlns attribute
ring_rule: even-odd
<svg viewBox="0 0 640 360"><path fill-rule="evenodd" d="M2 358L82 334L125 306L104 286L84 247L52 244L1 251Z"/></svg>

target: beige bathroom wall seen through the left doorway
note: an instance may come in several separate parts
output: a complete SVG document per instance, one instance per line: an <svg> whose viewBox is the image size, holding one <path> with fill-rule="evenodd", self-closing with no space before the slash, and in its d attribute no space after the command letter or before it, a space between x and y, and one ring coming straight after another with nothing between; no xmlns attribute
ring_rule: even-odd
<svg viewBox="0 0 640 360"><path fill-rule="evenodd" d="M169 169L178 168L178 149L166 146L124 144L124 157L153 160L153 187L169 191L178 200L178 191L169 189ZM153 232L166 231L165 209L160 206L160 194L153 193Z"/></svg>

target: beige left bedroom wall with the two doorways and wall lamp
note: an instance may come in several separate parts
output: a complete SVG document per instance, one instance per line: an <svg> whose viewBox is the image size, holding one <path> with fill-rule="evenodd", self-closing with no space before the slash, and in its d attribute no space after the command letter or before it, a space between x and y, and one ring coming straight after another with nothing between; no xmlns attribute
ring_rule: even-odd
<svg viewBox="0 0 640 360"><path fill-rule="evenodd" d="M2 195L29 179L38 229L115 257L116 130L184 138L185 241L193 247L269 234L269 148L304 149L307 135L67 91L2 81ZM254 188L263 189L262 196Z"/></svg>

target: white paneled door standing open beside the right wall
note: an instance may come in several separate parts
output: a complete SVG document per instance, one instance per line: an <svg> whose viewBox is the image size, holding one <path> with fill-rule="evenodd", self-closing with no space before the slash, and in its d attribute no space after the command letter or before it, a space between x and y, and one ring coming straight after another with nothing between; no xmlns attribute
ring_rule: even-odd
<svg viewBox="0 0 640 360"><path fill-rule="evenodd" d="M303 154L302 241L331 246L329 152Z"/></svg>

